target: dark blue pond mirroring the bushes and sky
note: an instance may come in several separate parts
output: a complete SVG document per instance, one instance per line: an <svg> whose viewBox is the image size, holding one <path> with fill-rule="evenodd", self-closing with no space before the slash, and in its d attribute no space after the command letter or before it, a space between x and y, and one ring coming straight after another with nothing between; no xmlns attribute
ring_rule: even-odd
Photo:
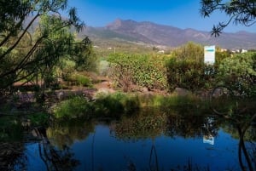
<svg viewBox="0 0 256 171"><path fill-rule="evenodd" d="M248 169L236 124L214 116L140 114L35 128L10 170L135 171ZM256 127L244 136L255 168Z"/></svg>

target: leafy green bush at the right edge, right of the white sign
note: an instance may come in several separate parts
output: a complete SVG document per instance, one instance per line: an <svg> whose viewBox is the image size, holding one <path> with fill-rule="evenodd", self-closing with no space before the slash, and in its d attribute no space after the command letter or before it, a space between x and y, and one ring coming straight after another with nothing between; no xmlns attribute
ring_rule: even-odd
<svg viewBox="0 0 256 171"><path fill-rule="evenodd" d="M218 66L218 79L239 95L256 95L256 54L235 54Z"/></svg>

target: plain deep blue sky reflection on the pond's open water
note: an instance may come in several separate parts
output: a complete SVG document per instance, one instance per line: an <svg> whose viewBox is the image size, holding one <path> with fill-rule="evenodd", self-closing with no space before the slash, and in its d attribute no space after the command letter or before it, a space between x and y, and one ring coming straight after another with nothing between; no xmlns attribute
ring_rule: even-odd
<svg viewBox="0 0 256 171"><path fill-rule="evenodd" d="M94 142L94 143L93 143ZM154 145L155 151L151 152ZM214 145L203 143L200 139L183 139L183 137L159 136L154 140L125 142L110 136L107 126L97 126L95 134L85 140L76 141L71 150L81 164L80 170L128 170L129 163L134 163L137 170L148 170L149 159L155 165L155 152L159 170L170 170L187 165L189 159L201 168L210 166L210 170L240 170L237 156L238 140L222 130L214 137ZM26 145L28 171L46 170L39 157L38 144Z"/></svg>

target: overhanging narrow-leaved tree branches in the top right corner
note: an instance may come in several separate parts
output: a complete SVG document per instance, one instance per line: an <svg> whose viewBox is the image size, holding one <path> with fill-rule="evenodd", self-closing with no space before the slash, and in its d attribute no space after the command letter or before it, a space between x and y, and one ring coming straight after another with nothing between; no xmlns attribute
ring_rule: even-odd
<svg viewBox="0 0 256 171"><path fill-rule="evenodd" d="M213 26L212 35L215 37L233 21L236 25L252 26L256 22L255 0L201 0L201 15L209 17L214 11L220 10L230 17L227 22L219 22Z"/></svg>

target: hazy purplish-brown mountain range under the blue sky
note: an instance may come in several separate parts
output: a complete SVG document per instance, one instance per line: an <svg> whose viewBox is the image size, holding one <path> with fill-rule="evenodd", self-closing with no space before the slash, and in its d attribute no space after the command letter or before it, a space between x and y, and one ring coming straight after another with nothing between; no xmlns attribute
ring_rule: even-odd
<svg viewBox="0 0 256 171"><path fill-rule="evenodd" d="M247 31L223 32L219 37L212 37L210 31L197 31L190 28L179 29L148 21L137 22L117 19L104 27L86 27L82 34L89 36L92 40L121 40L169 47L178 47L192 41L229 49L256 48L256 33Z"/></svg>

